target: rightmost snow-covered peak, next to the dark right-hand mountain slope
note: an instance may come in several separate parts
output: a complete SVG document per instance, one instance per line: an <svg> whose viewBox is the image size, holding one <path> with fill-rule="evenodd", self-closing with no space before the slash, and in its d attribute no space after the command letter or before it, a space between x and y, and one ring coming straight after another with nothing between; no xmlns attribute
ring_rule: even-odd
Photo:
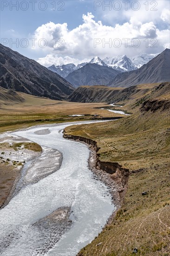
<svg viewBox="0 0 170 256"><path fill-rule="evenodd" d="M141 53L131 57L130 59L136 65L136 67L139 68L139 67L142 67L144 64L148 63L149 61L151 61L157 55L158 54Z"/></svg>

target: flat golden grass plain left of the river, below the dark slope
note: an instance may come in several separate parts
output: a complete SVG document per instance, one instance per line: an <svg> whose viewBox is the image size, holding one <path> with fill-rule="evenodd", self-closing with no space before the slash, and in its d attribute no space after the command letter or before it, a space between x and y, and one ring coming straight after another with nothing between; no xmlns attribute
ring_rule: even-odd
<svg viewBox="0 0 170 256"><path fill-rule="evenodd" d="M119 114L99 109L106 103L76 103L54 101L29 94L17 93L24 99L22 102L1 101L0 131L27 128L33 125L67 121L92 120L92 115L117 117ZM85 115L70 117L69 115Z"/></svg>

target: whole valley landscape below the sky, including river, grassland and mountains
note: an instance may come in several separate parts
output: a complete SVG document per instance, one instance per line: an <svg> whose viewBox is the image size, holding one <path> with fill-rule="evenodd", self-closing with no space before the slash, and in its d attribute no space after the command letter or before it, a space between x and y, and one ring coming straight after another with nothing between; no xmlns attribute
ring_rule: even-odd
<svg viewBox="0 0 170 256"><path fill-rule="evenodd" d="M2 255L168 256L170 49L0 56Z"/></svg>

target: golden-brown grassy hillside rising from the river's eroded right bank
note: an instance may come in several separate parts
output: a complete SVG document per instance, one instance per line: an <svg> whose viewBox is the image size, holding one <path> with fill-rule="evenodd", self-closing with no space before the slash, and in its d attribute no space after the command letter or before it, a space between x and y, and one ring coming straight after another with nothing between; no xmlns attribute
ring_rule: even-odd
<svg viewBox="0 0 170 256"><path fill-rule="evenodd" d="M109 224L78 256L168 256L170 252L170 83L145 95L139 91L138 97L136 92L136 99L118 104L123 102L131 116L65 129L67 137L95 141L97 169L119 166L112 173L105 171L119 186L119 195L124 195ZM125 185L122 168L129 169Z"/></svg>

